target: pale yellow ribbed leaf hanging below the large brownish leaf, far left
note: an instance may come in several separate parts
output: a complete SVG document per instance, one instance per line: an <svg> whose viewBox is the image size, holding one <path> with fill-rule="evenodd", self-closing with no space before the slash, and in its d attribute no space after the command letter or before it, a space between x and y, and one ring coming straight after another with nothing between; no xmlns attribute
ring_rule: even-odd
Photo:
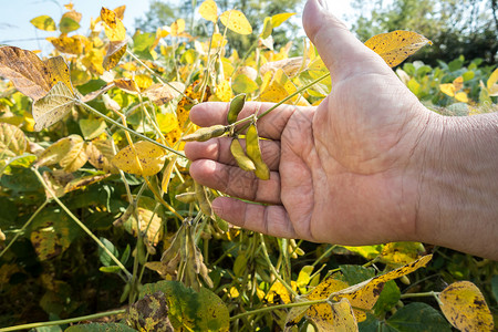
<svg viewBox="0 0 498 332"><path fill-rule="evenodd" d="M40 132L62 120L75 102L73 92L63 82L58 82L46 96L33 103L34 131Z"/></svg>

